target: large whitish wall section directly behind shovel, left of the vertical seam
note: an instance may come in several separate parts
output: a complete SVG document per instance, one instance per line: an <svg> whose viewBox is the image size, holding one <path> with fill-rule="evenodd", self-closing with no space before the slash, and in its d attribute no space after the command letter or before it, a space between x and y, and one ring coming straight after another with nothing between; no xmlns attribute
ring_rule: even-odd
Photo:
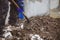
<svg viewBox="0 0 60 40"><path fill-rule="evenodd" d="M36 16L36 15L44 15L49 11L48 5L49 5L49 0L42 0L41 2L37 0L27 1L25 5L25 14L28 17Z"/></svg>

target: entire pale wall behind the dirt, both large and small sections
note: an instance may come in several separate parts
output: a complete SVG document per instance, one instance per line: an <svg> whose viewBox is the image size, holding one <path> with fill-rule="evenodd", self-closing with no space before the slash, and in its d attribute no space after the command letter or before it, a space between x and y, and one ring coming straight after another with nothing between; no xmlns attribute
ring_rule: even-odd
<svg viewBox="0 0 60 40"><path fill-rule="evenodd" d="M29 18L32 16L42 16L49 14L49 9L58 7L59 0L25 0L25 15Z"/></svg>

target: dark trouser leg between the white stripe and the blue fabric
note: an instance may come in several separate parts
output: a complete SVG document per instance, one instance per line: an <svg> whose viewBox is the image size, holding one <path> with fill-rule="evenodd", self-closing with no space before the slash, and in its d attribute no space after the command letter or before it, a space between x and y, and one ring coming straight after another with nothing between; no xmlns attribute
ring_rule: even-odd
<svg viewBox="0 0 60 40"><path fill-rule="evenodd" d="M10 1L11 2L11 1ZM10 9L10 17L9 17L9 24L16 25L17 22L17 10L15 5L11 2L11 9Z"/></svg>

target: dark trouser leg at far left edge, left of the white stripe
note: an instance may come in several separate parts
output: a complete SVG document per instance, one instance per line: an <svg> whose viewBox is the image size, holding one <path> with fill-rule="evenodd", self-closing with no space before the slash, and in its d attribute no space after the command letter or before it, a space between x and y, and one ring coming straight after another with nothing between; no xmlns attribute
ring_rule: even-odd
<svg viewBox="0 0 60 40"><path fill-rule="evenodd" d="M8 0L0 0L0 35L3 35L3 26L8 11Z"/></svg>

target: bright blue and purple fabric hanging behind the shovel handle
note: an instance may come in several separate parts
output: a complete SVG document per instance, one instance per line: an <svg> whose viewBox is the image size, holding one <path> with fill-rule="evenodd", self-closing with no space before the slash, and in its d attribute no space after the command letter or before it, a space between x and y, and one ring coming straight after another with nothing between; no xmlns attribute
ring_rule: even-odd
<svg viewBox="0 0 60 40"><path fill-rule="evenodd" d="M24 0L17 0L17 4L19 5L20 8L17 8L19 14L18 14L18 18L19 19L24 19L24 15L23 15L23 12L24 12ZM23 6L22 6L23 5Z"/></svg>

